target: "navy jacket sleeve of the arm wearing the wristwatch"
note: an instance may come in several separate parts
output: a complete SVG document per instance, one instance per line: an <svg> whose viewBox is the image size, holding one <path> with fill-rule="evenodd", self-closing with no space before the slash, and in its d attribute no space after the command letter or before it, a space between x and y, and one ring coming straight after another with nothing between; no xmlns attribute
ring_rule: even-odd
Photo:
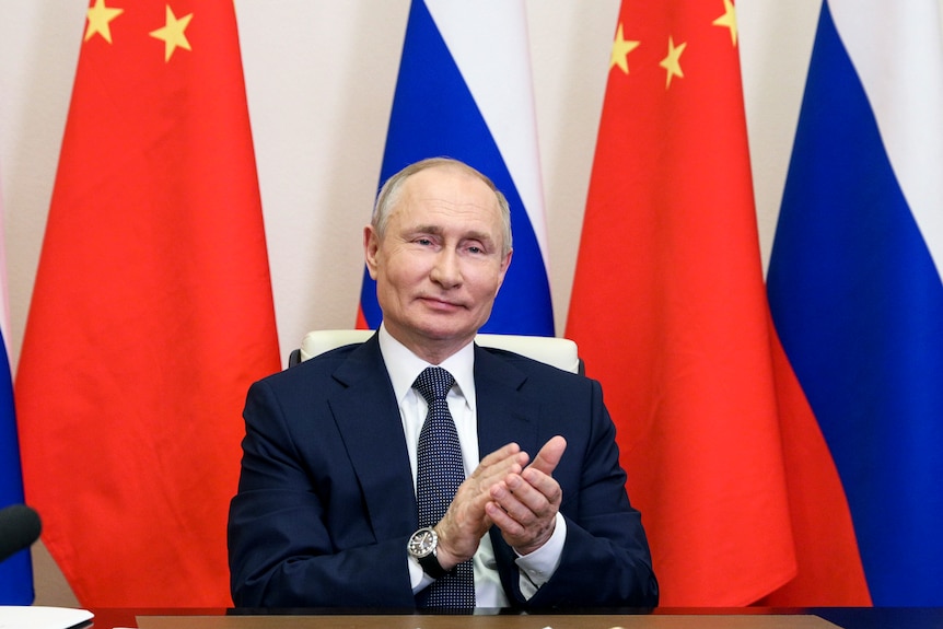
<svg viewBox="0 0 943 629"><path fill-rule="evenodd" d="M377 538L369 517L358 517L363 501L353 470L345 468L340 440L325 424L292 434L279 401L266 381L253 385L246 400L242 469L228 527L233 602L257 608L412 608L408 534ZM335 458L311 461L299 452L299 436ZM333 503L348 504L348 512L331 513L344 511Z"/></svg>

